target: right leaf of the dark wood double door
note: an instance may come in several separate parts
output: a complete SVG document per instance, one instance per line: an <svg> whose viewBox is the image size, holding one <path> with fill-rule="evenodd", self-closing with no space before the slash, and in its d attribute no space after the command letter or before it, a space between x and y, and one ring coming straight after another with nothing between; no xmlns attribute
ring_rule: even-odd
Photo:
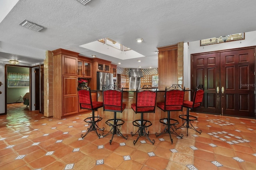
<svg viewBox="0 0 256 170"><path fill-rule="evenodd" d="M251 48L220 53L223 115L255 117L254 52Z"/></svg>

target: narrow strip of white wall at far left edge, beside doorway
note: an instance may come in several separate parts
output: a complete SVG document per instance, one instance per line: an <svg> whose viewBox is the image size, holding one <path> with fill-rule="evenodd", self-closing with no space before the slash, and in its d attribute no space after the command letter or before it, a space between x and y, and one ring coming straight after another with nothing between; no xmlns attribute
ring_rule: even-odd
<svg viewBox="0 0 256 170"><path fill-rule="evenodd" d="M5 111L5 79L4 79L4 63L0 62L0 81L2 81L2 85L0 86L0 91L2 91L2 94L0 94L0 114L4 113Z"/></svg>

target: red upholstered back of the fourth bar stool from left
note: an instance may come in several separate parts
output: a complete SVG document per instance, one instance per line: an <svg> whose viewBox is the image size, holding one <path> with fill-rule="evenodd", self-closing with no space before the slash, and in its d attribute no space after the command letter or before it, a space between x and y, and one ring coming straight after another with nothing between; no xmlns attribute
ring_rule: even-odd
<svg viewBox="0 0 256 170"><path fill-rule="evenodd" d="M184 90L170 90L165 92L165 111L182 111Z"/></svg>

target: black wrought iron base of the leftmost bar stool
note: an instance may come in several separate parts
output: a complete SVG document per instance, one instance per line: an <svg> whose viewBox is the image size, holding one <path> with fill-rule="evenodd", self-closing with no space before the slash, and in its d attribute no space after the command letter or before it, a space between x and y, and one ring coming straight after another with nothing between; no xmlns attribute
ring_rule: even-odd
<svg viewBox="0 0 256 170"><path fill-rule="evenodd" d="M102 117L96 117L96 118L97 118L97 120L95 121L94 110L93 110L92 111L92 117L88 117L88 118L84 119L84 121L86 123L88 123L88 125L90 125L90 127L87 128L86 134L81 134L82 138L84 138L89 132L92 132L92 131L96 132L98 138L100 138L100 134L97 132L97 129L99 129L101 131L104 131L104 128L99 128L98 125L97 125L97 122L101 121Z"/></svg>

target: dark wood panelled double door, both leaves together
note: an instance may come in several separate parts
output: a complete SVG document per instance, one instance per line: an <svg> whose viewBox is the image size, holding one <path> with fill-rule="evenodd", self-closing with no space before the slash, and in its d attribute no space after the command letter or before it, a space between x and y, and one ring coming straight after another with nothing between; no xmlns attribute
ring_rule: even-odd
<svg viewBox="0 0 256 170"><path fill-rule="evenodd" d="M204 86L202 106L194 111L256 119L255 47L191 57L191 87Z"/></svg>

